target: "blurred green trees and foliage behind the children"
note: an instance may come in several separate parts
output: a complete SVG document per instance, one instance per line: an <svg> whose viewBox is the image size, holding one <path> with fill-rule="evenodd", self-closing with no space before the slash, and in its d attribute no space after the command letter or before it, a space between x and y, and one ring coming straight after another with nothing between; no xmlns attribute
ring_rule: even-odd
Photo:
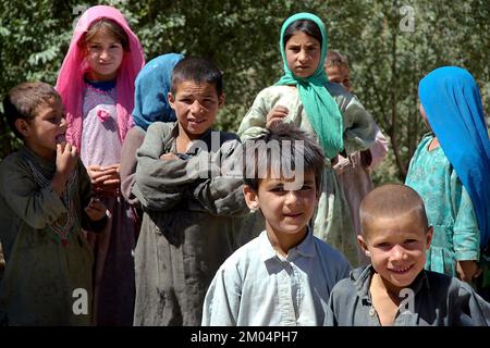
<svg viewBox="0 0 490 348"><path fill-rule="evenodd" d="M54 84L77 17L97 3L124 13L147 61L168 52L213 59L225 77L219 127L232 132L257 92L282 75L282 22L295 12L318 14L329 49L348 57L355 94L390 139L390 153L373 173L377 184L405 177L427 132L418 82L433 69L467 69L490 114L490 0L3 0L0 97L24 80ZM17 146L0 117L0 159Z"/></svg>

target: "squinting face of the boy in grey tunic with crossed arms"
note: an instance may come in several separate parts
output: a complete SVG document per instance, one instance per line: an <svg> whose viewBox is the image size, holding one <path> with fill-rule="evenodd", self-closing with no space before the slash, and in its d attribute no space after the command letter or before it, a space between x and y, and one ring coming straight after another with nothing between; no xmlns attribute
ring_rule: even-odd
<svg viewBox="0 0 490 348"><path fill-rule="evenodd" d="M209 83L183 80L177 84L175 96L169 92L170 107L175 110L180 132L196 139L215 123L224 95L218 96L216 86Z"/></svg>

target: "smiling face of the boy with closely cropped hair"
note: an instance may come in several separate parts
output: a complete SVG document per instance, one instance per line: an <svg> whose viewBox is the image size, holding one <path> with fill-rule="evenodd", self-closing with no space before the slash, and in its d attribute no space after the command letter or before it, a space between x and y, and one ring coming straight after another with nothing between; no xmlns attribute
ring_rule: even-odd
<svg viewBox="0 0 490 348"><path fill-rule="evenodd" d="M432 227L427 231L415 213L407 213L372 219L365 235L357 238L384 284L401 289L424 270Z"/></svg>

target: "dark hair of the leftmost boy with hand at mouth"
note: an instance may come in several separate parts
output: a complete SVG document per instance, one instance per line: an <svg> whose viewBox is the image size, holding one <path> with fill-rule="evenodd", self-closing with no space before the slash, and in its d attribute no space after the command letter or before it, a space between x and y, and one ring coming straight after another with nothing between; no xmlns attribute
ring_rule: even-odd
<svg viewBox="0 0 490 348"><path fill-rule="evenodd" d="M48 104L51 98L61 102L58 91L41 82L22 83L9 91L3 99L3 112L15 136L22 138L22 134L15 127L15 121L22 119L30 123L36 117L37 109Z"/></svg>

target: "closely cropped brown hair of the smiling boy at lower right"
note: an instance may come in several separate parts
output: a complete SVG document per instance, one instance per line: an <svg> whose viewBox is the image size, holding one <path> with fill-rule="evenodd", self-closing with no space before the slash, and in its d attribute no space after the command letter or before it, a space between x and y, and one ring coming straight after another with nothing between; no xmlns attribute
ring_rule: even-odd
<svg viewBox="0 0 490 348"><path fill-rule="evenodd" d="M422 224L428 231L424 200L415 189L406 185L387 184L375 188L360 202L359 215L363 235L366 235L369 223L376 219L412 214L414 221Z"/></svg>

